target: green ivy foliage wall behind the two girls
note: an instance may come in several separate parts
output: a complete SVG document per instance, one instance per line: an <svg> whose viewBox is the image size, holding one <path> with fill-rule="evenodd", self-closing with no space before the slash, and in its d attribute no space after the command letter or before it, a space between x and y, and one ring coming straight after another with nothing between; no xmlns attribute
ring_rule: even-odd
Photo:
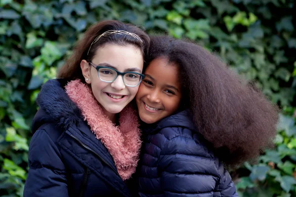
<svg viewBox="0 0 296 197"><path fill-rule="evenodd" d="M196 40L281 106L275 149L231 171L240 197L296 196L294 0L0 0L0 195L20 197L42 83L103 19Z"/></svg>

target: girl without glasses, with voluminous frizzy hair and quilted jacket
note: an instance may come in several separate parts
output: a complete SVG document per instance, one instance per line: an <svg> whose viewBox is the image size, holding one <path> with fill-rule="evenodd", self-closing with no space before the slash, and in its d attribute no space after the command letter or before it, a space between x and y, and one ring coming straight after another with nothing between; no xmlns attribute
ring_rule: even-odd
<svg viewBox="0 0 296 197"><path fill-rule="evenodd" d="M150 37L136 96L141 197L238 197L225 167L272 145L277 108L202 47Z"/></svg>

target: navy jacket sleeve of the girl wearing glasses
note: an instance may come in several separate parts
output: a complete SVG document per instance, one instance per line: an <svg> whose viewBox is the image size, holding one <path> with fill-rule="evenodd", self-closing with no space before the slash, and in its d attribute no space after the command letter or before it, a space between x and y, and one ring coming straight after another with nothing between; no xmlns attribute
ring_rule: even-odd
<svg viewBox="0 0 296 197"><path fill-rule="evenodd" d="M24 197L68 197L65 165L56 144L44 130L36 131L30 142Z"/></svg>

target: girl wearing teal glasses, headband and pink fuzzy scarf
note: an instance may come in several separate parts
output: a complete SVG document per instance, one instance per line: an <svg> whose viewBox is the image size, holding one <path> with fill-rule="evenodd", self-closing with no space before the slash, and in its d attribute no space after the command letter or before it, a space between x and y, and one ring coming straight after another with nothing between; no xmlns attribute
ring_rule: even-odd
<svg viewBox="0 0 296 197"><path fill-rule="evenodd" d="M90 27L37 97L25 197L131 196L140 151L130 102L149 37L118 21Z"/></svg>

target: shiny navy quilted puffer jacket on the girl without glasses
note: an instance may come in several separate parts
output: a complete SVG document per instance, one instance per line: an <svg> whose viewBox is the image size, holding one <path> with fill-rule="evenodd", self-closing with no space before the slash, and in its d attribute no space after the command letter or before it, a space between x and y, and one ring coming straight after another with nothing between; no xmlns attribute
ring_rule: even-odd
<svg viewBox="0 0 296 197"><path fill-rule="evenodd" d="M141 197L238 197L228 171L182 111L144 125Z"/></svg>

